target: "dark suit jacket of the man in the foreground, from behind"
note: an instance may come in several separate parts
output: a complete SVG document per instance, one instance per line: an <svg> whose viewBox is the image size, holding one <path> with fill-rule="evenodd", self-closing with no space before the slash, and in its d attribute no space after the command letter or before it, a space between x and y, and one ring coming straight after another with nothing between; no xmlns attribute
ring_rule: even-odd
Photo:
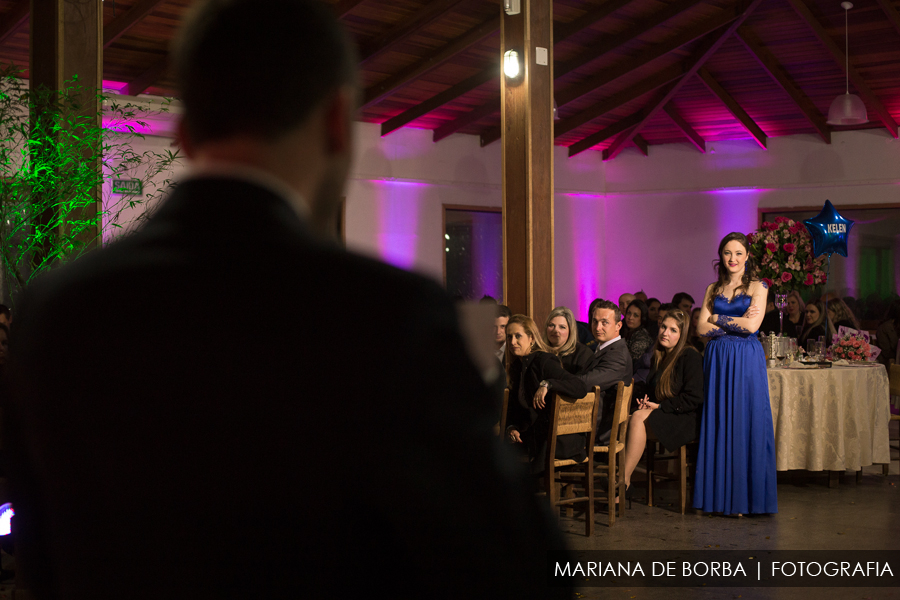
<svg viewBox="0 0 900 600"><path fill-rule="evenodd" d="M27 296L4 450L38 598L569 595L449 297L272 192L184 182Z"/></svg>

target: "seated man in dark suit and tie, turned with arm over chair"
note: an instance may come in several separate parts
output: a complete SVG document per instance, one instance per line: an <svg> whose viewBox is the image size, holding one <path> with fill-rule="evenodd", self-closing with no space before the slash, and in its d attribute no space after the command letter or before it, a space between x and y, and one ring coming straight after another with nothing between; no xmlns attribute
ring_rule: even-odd
<svg viewBox="0 0 900 600"><path fill-rule="evenodd" d="M625 340L619 335L621 328L622 313L615 302L601 300L594 305L591 314L594 356L577 377L587 384L588 389L599 386L603 393L597 417L598 443L609 440L616 404L616 386L620 381L624 381L626 385L631 383L631 354ZM542 381L535 394L535 402L542 404L547 391L553 390L553 385L552 379Z"/></svg>

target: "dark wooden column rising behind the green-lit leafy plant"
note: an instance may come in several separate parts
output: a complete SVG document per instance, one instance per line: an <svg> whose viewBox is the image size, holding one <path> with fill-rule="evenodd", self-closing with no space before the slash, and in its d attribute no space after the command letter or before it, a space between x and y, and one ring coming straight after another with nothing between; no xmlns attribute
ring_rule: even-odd
<svg viewBox="0 0 900 600"><path fill-rule="evenodd" d="M62 90L65 82L77 75L77 83L84 90L79 99L83 114L94 118L98 126L101 109L98 93L103 87L102 6L101 0L31 0L29 41L31 86ZM99 157L99 150L92 154ZM100 169L99 159L93 162ZM95 191L95 212L101 208L101 191L99 187ZM98 235L99 227L86 240L96 241Z"/></svg>

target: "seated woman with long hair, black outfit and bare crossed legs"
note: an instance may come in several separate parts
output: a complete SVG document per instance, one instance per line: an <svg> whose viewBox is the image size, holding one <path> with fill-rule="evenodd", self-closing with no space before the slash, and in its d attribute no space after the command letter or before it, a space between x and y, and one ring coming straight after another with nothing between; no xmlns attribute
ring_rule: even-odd
<svg viewBox="0 0 900 600"><path fill-rule="evenodd" d="M687 343L687 331L687 315L678 309L669 311L659 330L650 379L646 384L635 384L640 409L631 415L625 441L626 498L631 497L631 474L644 453L648 432L669 451L696 440L700 434L703 359Z"/></svg>

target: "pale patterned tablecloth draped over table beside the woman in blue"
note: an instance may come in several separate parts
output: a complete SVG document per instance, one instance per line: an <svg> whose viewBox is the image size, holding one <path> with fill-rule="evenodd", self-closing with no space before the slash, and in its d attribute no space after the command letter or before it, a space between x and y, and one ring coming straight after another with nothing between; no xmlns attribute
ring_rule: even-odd
<svg viewBox="0 0 900 600"><path fill-rule="evenodd" d="M884 365L770 368L779 471L858 471L890 460Z"/></svg>

